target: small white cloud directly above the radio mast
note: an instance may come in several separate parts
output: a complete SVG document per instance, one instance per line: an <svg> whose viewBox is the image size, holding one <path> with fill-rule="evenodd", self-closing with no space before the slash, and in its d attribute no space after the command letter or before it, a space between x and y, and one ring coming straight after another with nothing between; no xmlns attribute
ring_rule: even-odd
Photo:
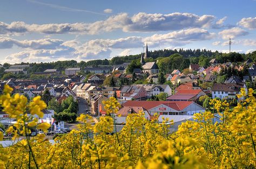
<svg viewBox="0 0 256 169"><path fill-rule="evenodd" d="M219 35L223 39L236 38L241 36L246 36L248 34L247 31L241 29L240 27L233 27L231 29L226 29L219 32Z"/></svg>

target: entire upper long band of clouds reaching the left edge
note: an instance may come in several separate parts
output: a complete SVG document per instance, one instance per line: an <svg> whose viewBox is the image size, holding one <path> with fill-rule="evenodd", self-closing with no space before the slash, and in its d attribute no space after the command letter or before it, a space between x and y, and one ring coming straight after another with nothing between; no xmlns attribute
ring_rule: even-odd
<svg viewBox="0 0 256 169"><path fill-rule="evenodd" d="M111 9L106 9L111 12ZM21 33L84 33L98 34L123 30L124 32L154 32L173 31L188 28L219 27L225 18L215 20L212 15L198 16L193 13L144 13L129 16L127 13L118 13L105 20L94 23L62 23L62 24L26 24L24 22L12 22L10 24L0 22L0 34ZM217 26L216 26L217 25Z"/></svg>

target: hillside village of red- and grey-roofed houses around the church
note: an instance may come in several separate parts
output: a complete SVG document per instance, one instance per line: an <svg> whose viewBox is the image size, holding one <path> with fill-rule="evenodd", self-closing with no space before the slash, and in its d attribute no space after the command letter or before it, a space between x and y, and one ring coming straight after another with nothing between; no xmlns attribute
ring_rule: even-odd
<svg viewBox="0 0 256 169"><path fill-rule="evenodd" d="M1 81L0 91L7 84L14 88L12 94L25 95L31 100L35 96L42 96L47 90L51 100L58 104L69 97L78 104L84 100L89 109L82 111L95 116L104 116L106 111L103 101L116 97L122 105L117 112L117 124L125 124L127 115L139 112L144 112L145 118L149 120L157 113L159 122L163 121L163 117L168 117L181 123L192 118L193 114L207 110L211 98L225 99L231 106L235 105L240 89L245 88L247 92L256 79L256 65L251 59L240 65L231 62L220 64L216 59L211 59L207 67L190 64L183 71L174 69L171 73L163 74L157 61L145 61L148 55L146 46L146 52L142 53L139 61L141 67L134 67L132 73L127 71L131 62L83 69L66 68L65 75L58 69L45 69L36 74L48 75L48 79L10 78ZM24 70L28 67L29 64L11 65L4 72L27 74ZM87 72L87 75L80 72ZM223 79L226 74L230 76ZM56 110L47 111L46 116L50 114L47 118L56 115ZM5 118L8 115L0 112L0 119Z"/></svg>

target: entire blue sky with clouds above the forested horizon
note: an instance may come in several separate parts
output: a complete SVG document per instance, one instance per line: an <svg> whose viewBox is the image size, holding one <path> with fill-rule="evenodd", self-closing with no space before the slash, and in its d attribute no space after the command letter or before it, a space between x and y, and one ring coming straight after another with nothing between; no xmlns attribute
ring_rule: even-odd
<svg viewBox="0 0 256 169"><path fill-rule="evenodd" d="M110 59L164 48L256 50L256 1L2 1L1 63Z"/></svg>

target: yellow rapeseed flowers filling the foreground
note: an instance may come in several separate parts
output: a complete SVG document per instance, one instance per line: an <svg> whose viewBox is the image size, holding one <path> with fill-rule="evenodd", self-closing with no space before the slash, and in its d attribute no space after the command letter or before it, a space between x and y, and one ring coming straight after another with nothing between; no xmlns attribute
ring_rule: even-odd
<svg viewBox="0 0 256 169"><path fill-rule="evenodd" d="M8 132L25 136L32 127L47 130L30 114L42 116L46 107L36 97L27 103L11 96L5 86L0 104L17 123ZM130 114L119 132L115 114L120 104L113 97L105 102L107 116L99 123L89 115L77 118L77 130L55 138L27 138L10 147L0 147L0 168L255 168L256 101L253 90L241 92L237 107L213 99L211 111L196 114L171 132L173 121L147 121L142 113ZM30 112L30 114L28 114ZM214 114L213 114L214 112ZM217 120L216 120L217 119ZM0 133L0 139L2 139Z"/></svg>

